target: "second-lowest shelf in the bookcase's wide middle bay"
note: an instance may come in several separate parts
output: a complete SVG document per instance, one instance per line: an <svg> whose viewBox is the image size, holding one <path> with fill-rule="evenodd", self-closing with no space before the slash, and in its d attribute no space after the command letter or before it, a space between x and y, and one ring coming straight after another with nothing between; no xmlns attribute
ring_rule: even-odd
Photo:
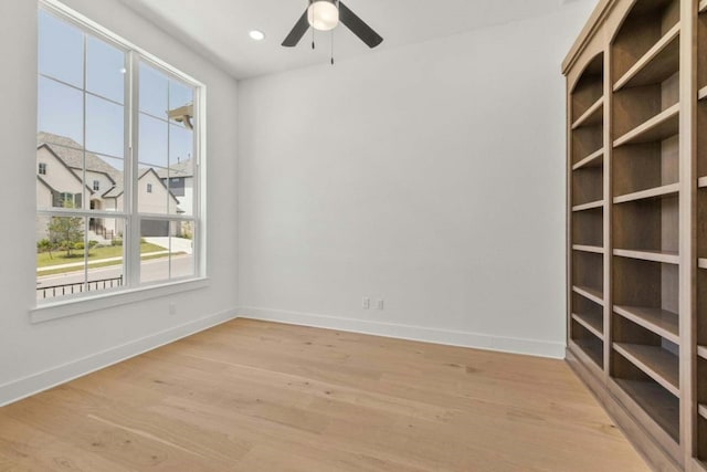
<svg viewBox="0 0 707 472"><path fill-rule="evenodd" d="M680 396L679 358L659 346L614 343L614 350L658 382L675 397Z"/></svg>

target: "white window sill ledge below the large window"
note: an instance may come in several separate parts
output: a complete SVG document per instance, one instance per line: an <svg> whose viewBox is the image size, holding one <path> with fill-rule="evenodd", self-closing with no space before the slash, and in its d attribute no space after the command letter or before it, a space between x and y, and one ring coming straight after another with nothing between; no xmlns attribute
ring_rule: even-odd
<svg viewBox="0 0 707 472"><path fill-rule="evenodd" d="M38 306L30 311L30 323L43 323L67 316L81 315L115 306L138 303L145 300L159 298L176 293L205 289L210 285L209 279L190 279L180 282L170 282L160 285L149 285L129 291L105 293L85 298L72 298L51 305Z"/></svg>

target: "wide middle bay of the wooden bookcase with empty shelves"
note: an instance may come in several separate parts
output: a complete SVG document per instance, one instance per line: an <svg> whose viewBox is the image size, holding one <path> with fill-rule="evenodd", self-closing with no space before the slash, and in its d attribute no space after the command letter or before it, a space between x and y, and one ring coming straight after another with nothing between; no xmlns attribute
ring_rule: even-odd
<svg viewBox="0 0 707 472"><path fill-rule="evenodd" d="M615 105L611 128L618 136L612 162L612 301L641 308L612 313L609 376L676 443L679 7L679 0L636 1L610 45Z"/></svg>

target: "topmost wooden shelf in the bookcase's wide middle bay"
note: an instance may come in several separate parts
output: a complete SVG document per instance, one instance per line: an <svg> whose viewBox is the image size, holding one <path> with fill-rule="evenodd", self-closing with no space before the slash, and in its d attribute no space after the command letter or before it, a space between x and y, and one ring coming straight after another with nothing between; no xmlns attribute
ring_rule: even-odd
<svg viewBox="0 0 707 472"><path fill-rule="evenodd" d="M614 84L614 92L624 87L657 84L679 70L679 23L661 38Z"/></svg>

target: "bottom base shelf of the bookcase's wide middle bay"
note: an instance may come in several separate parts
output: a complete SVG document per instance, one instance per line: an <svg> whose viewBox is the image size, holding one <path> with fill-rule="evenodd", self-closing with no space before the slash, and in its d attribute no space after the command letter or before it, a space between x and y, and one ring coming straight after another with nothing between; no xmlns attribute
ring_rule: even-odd
<svg viewBox="0 0 707 472"><path fill-rule="evenodd" d="M614 381L636 403L645 410L653 420L675 440L678 441L679 400L657 384L643 380L615 378Z"/></svg>

